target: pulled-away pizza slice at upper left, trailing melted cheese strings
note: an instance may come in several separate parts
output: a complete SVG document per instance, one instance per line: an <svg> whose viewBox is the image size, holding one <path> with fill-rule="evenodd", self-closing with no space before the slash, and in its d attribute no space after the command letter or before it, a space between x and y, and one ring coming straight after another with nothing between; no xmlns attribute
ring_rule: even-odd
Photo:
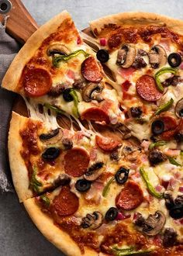
<svg viewBox="0 0 183 256"><path fill-rule="evenodd" d="M42 105L75 118L123 122L118 95L107 81L94 52L64 11L29 38L2 86L22 95L28 108Z"/></svg>

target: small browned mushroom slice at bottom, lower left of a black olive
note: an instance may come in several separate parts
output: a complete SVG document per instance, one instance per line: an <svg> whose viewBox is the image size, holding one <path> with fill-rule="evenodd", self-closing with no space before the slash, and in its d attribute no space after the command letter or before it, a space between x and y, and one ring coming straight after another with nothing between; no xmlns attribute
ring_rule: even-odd
<svg viewBox="0 0 183 256"><path fill-rule="evenodd" d="M94 212L88 213L81 222L81 227L88 228L89 230L96 230L102 225L102 213Z"/></svg>

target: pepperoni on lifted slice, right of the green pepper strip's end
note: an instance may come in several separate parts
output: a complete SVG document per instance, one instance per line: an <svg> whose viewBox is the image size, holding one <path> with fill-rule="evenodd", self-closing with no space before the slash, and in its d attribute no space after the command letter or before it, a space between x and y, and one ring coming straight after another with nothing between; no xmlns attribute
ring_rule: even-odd
<svg viewBox="0 0 183 256"><path fill-rule="evenodd" d="M83 61L81 64L81 74L88 81L98 83L102 80L101 68L94 57L88 57Z"/></svg>

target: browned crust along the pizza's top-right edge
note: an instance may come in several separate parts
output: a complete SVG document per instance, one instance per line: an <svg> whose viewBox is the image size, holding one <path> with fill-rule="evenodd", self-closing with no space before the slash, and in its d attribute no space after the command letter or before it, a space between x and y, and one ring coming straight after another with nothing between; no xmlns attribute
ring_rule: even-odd
<svg viewBox="0 0 183 256"><path fill-rule="evenodd" d="M167 16L151 12L121 12L118 14L105 16L95 19L90 22L90 28L94 33L94 29L100 33L105 24L119 24L123 26L138 26L138 25L154 25L154 26L167 26L176 33L183 35L183 21L180 19L173 19ZM94 33L95 34L95 33Z"/></svg>

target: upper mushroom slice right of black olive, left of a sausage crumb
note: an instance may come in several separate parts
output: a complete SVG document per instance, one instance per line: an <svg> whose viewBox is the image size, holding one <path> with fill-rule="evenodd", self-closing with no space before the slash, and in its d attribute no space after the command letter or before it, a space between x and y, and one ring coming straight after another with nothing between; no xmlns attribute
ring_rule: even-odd
<svg viewBox="0 0 183 256"><path fill-rule="evenodd" d="M136 49L131 44L123 44L122 48L118 51L116 64L127 68L130 67L136 58Z"/></svg>

